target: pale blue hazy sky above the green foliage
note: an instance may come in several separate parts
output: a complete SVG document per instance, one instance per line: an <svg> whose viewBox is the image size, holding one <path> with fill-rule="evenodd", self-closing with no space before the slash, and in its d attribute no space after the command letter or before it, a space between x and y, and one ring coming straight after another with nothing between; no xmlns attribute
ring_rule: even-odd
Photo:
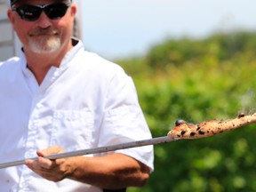
<svg viewBox="0 0 256 192"><path fill-rule="evenodd" d="M255 0L82 0L85 49L107 59L143 55L167 38L256 31Z"/></svg>

